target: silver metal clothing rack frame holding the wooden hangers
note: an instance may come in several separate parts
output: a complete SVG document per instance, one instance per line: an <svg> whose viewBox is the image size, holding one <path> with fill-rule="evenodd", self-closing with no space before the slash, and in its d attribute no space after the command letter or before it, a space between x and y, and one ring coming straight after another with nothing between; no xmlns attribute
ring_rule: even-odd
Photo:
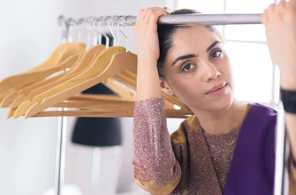
<svg viewBox="0 0 296 195"><path fill-rule="evenodd" d="M89 21L89 19L92 21ZM73 20L60 16L59 25L63 26L63 42L69 36L70 27L74 25L84 25L86 23L93 25L108 24L110 21L118 26L134 26L136 16L101 16L90 17L87 19L80 18ZM71 23L72 21L72 23ZM74 21L74 23L73 23ZM91 22L91 23L90 23ZM97 23L99 22L99 23ZM235 25L235 24L261 24L261 14L182 14L182 15L165 15L161 16L157 22L158 25ZM57 134L57 154L56 154L56 171L55 171L55 190L56 195L61 195L61 186L64 181L65 172L65 150L66 150L66 117L59 117L58 134ZM289 142L285 130L285 111L283 103L278 103L278 115L276 124L275 140L275 178L273 195L288 195L288 154Z"/></svg>

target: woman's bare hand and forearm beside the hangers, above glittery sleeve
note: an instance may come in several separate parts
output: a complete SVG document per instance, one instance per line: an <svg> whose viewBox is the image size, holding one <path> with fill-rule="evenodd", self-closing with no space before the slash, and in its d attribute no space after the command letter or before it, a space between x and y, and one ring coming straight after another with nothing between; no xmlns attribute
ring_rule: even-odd
<svg viewBox="0 0 296 195"><path fill-rule="evenodd" d="M159 40L157 20L161 15L170 14L161 7L141 9L134 28L137 55L137 96L136 101L161 98L157 60L159 58Z"/></svg>

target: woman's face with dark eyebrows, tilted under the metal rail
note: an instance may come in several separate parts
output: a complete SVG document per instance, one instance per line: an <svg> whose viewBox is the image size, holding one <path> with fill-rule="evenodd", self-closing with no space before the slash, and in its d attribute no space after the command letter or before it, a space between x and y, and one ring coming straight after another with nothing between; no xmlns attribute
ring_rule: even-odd
<svg viewBox="0 0 296 195"><path fill-rule="evenodd" d="M233 101L231 72L229 58L216 33L204 26L180 28L173 35L173 47L164 63L166 79L161 88L192 110L222 111ZM207 93L225 83L222 95Z"/></svg>

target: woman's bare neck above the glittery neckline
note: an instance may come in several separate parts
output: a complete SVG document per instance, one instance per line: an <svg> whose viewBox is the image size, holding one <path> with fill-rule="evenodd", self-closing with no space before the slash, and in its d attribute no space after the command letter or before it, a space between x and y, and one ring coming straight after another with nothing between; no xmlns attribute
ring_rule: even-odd
<svg viewBox="0 0 296 195"><path fill-rule="evenodd" d="M244 119L248 105L235 98L231 106L221 112L201 111L194 112L202 129L212 135L222 135L236 128Z"/></svg>

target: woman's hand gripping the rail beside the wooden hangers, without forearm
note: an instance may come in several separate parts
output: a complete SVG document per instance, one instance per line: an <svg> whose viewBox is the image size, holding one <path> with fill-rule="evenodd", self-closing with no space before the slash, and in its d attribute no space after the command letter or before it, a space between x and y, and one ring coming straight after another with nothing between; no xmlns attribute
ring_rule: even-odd
<svg viewBox="0 0 296 195"><path fill-rule="evenodd" d="M150 7L139 11L134 28L138 61L157 62L159 58L157 20L159 16L167 14L170 12L161 7Z"/></svg>

